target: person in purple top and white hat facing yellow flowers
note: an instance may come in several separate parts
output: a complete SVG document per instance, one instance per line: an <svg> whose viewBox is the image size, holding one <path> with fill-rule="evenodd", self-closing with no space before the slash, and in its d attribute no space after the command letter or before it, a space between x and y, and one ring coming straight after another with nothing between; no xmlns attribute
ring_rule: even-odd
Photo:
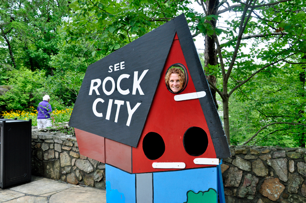
<svg viewBox="0 0 306 203"><path fill-rule="evenodd" d="M54 117L52 117L52 107L51 104L49 104L50 97L49 95L45 95L42 98L42 102L39 102L37 107L37 128L45 128L45 127L51 127L51 119L54 122Z"/></svg>

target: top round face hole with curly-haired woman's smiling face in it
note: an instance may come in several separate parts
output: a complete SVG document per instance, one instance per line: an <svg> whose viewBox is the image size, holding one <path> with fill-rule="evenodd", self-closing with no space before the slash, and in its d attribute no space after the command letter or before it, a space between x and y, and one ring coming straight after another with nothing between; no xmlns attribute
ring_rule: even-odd
<svg viewBox="0 0 306 203"><path fill-rule="evenodd" d="M173 93L181 93L185 90L188 83L188 74L183 64L171 65L165 75L167 89Z"/></svg>

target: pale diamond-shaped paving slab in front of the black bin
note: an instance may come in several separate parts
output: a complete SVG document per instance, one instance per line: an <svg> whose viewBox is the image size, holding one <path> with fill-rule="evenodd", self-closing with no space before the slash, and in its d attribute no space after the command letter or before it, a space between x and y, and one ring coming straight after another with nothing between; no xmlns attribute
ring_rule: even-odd
<svg viewBox="0 0 306 203"><path fill-rule="evenodd" d="M43 195L50 192L59 192L71 187L75 187L75 185L61 183L59 181L50 179L40 179L31 183L10 188L10 190L31 195Z"/></svg>

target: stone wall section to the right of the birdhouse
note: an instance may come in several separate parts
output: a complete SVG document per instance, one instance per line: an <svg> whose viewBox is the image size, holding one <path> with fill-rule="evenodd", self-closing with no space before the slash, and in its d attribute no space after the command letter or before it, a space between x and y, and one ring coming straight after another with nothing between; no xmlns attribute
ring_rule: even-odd
<svg viewBox="0 0 306 203"><path fill-rule="evenodd" d="M231 146L221 165L227 203L306 202L306 149Z"/></svg>

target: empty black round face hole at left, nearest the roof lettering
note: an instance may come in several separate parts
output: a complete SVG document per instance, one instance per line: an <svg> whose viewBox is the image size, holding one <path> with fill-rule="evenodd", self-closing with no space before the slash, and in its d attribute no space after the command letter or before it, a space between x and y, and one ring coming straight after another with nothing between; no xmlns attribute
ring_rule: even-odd
<svg viewBox="0 0 306 203"><path fill-rule="evenodd" d="M156 160L164 154L165 142L158 133L149 132L143 138L142 149L148 159Z"/></svg>

